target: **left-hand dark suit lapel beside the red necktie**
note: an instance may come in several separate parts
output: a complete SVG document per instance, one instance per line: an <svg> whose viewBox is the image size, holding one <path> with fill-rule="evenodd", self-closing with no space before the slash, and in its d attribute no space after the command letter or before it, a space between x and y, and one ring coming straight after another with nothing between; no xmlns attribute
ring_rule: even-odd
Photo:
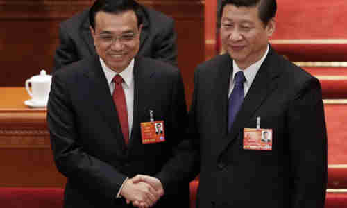
<svg viewBox="0 0 347 208"><path fill-rule="evenodd" d="M121 125L117 116L115 103L110 93L108 81L101 68L99 56L93 56L93 58L95 60L92 62L92 66L89 67L90 70L85 72L85 76L89 78L88 86L92 86L89 89L90 100L94 103L96 110L99 110L101 116L104 117L105 122L110 125L118 147L121 150L125 150L124 137L121 133Z"/></svg>

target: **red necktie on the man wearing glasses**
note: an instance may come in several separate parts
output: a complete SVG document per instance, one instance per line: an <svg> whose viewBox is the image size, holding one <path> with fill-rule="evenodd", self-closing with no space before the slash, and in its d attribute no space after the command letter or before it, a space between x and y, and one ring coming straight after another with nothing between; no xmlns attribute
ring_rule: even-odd
<svg viewBox="0 0 347 208"><path fill-rule="evenodd" d="M126 146L129 140L129 123L128 123L128 110L126 110L126 96L124 94L124 89L121 86L123 83L123 78L117 74L113 78L115 82L115 90L113 91L113 101L116 105L116 110L118 114L119 122L121 123L121 132L123 133L124 142Z"/></svg>

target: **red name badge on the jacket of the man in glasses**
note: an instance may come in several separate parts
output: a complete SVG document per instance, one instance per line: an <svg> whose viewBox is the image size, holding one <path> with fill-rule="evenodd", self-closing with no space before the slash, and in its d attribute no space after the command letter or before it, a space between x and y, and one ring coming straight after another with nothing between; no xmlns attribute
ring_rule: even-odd
<svg viewBox="0 0 347 208"><path fill-rule="evenodd" d="M141 123L142 144L165 141L164 121Z"/></svg>

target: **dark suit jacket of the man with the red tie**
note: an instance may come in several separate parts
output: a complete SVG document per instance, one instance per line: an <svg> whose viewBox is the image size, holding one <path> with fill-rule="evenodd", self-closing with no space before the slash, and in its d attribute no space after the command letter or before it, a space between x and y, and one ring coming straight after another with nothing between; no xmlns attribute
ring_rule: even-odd
<svg viewBox="0 0 347 208"><path fill-rule="evenodd" d="M115 199L126 177L155 175L185 139L186 105L176 67L135 58L133 128L125 148L117 111L99 57L74 62L53 75L47 109L58 171L67 177L65 207L127 207ZM166 141L142 144L140 123L164 121ZM165 190L157 207L187 207L189 184Z"/></svg>

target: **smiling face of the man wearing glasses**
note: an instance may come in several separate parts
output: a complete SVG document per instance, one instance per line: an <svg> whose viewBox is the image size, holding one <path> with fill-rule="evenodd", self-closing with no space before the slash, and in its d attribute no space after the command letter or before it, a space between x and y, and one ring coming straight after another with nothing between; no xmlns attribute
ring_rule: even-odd
<svg viewBox="0 0 347 208"><path fill-rule="evenodd" d="M96 53L110 69L118 73L123 71L139 51L141 28L137 27L137 17L133 10L117 15L97 12L95 31L90 27Z"/></svg>

